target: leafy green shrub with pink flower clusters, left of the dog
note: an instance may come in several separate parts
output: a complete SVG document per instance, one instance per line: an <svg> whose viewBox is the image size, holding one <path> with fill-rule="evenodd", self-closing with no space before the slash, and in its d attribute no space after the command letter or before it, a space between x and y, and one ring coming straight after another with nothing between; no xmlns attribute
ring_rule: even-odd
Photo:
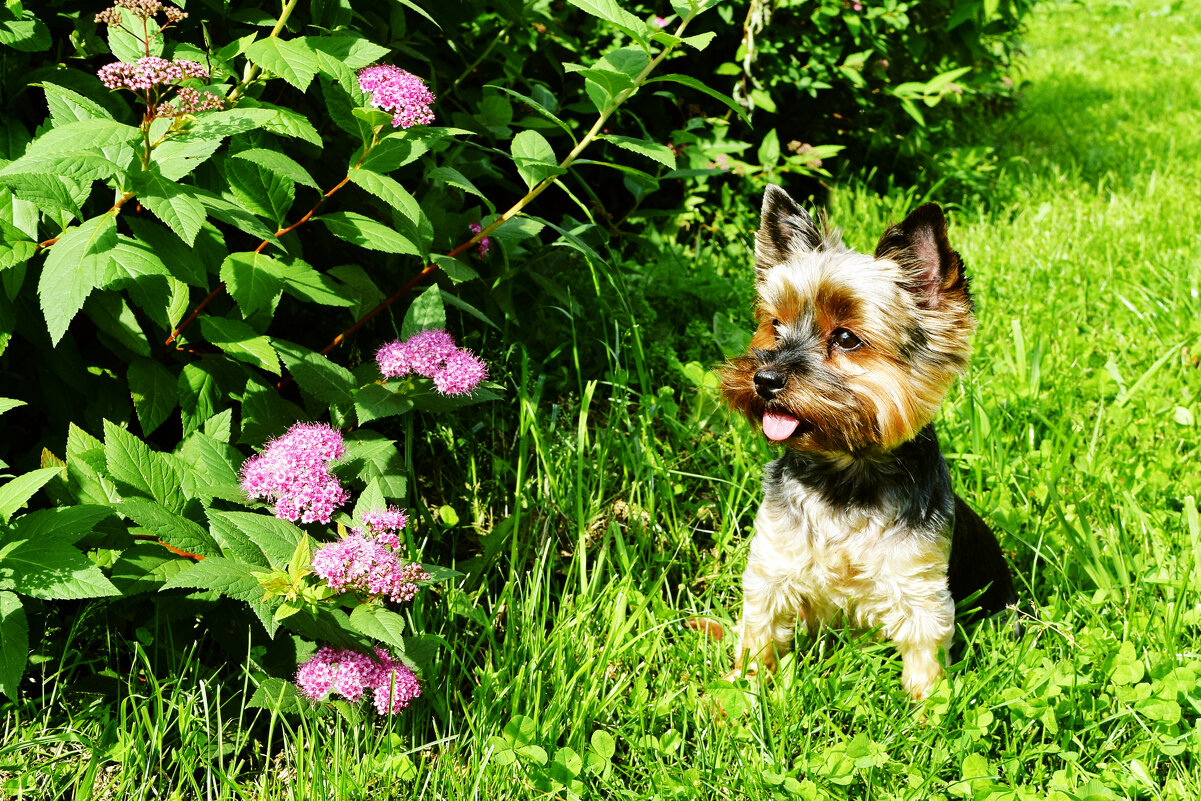
<svg viewBox="0 0 1201 801"><path fill-rule="evenodd" d="M414 621L460 575L434 563L399 438L501 396L494 319L519 317L503 298L526 249L604 265L588 213L539 205L572 196L590 148L588 169L692 178L631 97L655 80L734 108L664 68L710 41L691 29L705 5L573 4L590 44L556 64L569 97L420 46L442 24L495 36L490 4L363 29L377 4L289 0L265 22L261 4L8 4L10 78L73 58L0 124L0 369L30 378L0 441L38 465L0 485L0 692L26 665L23 597L108 597L131 626L135 599L203 616L226 598L256 642L304 644L298 666L253 668L253 703L420 697L436 640Z"/></svg>

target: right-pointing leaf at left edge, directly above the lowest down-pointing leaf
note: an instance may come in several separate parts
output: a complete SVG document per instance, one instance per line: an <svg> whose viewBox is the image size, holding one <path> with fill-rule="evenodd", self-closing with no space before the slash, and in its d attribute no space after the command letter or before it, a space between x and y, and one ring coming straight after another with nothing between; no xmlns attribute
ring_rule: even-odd
<svg viewBox="0 0 1201 801"><path fill-rule="evenodd" d="M0 538L0 590L47 600L120 594L78 548L12 533Z"/></svg>

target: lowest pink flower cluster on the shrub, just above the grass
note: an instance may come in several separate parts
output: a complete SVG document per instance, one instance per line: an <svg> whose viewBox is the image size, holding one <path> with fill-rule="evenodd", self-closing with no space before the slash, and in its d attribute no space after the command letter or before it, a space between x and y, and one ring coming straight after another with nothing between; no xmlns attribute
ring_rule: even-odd
<svg viewBox="0 0 1201 801"><path fill-rule="evenodd" d="M378 646L375 659L349 648L324 646L297 670L297 687L311 701L330 693L358 701L370 689L380 715L396 715L422 694L413 671Z"/></svg>

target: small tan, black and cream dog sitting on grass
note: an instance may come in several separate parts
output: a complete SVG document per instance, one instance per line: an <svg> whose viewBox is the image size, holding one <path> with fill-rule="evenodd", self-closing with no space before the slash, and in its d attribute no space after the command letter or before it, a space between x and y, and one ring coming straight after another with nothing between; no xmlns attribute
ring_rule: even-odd
<svg viewBox="0 0 1201 801"><path fill-rule="evenodd" d="M748 659L773 671L797 615L811 636L844 616L879 627L922 699L955 602L982 591L990 614L1015 602L997 538L951 490L930 424L975 328L943 210L920 207L867 256L769 186L755 273L759 327L722 390L785 450L764 474L735 671Z"/></svg>

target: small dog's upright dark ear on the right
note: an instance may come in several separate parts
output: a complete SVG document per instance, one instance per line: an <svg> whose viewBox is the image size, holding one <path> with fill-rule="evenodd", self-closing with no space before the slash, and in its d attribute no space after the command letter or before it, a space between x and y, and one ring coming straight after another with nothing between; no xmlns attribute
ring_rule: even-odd
<svg viewBox="0 0 1201 801"><path fill-rule="evenodd" d="M967 295L963 262L946 239L946 217L937 203L918 207L904 222L885 231L876 258L901 264L913 279L913 289L932 309L950 294Z"/></svg>

